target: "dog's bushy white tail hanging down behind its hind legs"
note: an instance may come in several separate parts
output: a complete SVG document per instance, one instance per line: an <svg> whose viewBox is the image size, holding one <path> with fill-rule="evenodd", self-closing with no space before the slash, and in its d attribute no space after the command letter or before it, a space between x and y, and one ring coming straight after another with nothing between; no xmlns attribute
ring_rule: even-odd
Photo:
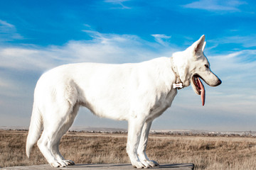
<svg viewBox="0 0 256 170"><path fill-rule="evenodd" d="M26 140L26 155L29 158L31 149L33 145L38 141L41 135L41 129L43 126L43 120L41 117L41 113L36 106L36 103L33 103L33 111L31 115L31 124L28 130L28 137Z"/></svg>

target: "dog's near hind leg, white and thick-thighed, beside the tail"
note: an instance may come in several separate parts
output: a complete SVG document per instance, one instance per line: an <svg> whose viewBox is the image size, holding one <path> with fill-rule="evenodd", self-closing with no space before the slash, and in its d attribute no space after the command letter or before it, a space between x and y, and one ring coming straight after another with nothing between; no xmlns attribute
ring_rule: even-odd
<svg viewBox="0 0 256 170"><path fill-rule="evenodd" d="M65 123L67 123L70 113L73 111L73 106L70 106L68 101L63 101L60 102L60 104L50 103L46 108L43 120L44 129L40 139L38 140L38 147L51 166L68 166L65 161L60 159L62 156L61 154L58 154L56 144L58 144L60 138L63 136L63 132L66 129L68 130L68 128L63 128L63 125L65 127ZM73 121L68 123L68 125L71 125L72 123ZM61 157L56 157L56 155Z"/></svg>

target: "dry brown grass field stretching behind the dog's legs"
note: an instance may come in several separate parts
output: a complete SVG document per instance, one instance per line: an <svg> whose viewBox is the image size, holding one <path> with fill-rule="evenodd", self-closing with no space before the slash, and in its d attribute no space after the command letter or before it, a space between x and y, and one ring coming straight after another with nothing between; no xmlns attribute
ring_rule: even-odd
<svg viewBox="0 0 256 170"><path fill-rule="evenodd" d="M0 130L0 166L47 164L38 147L25 154L26 131ZM196 169L256 169L255 137L149 135L147 154L160 164L193 163ZM129 163L126 134L68 132L60 152L77 164Z"/></svg>

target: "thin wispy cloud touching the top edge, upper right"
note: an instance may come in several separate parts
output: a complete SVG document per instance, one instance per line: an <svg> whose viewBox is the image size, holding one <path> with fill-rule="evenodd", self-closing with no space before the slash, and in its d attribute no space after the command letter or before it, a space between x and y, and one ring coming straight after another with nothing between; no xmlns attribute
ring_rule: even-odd
<svg viewBox="0 0 256 170"><path fill-rule="evenodd" d="M196 8L206 11L228 11L228 12L239 12L240 6L247 4L245 1L221 1L221 0L200 0L194 1L191 4L186 4L185 8Z"/></svg>

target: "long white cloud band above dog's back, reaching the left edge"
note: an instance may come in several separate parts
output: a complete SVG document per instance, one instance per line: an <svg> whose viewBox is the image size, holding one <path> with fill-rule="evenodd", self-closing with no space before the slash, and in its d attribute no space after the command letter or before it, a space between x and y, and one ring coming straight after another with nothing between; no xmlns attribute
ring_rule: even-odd
<svg viewBox="0 0 256 170"><path fill-rule="evenodd" d="M43 71L73 62L142 62L159 57L156 43L136 35L102 34L84 30L92 40L69 41L63 46L0 47L0 67L6 69Z"/></svg>

